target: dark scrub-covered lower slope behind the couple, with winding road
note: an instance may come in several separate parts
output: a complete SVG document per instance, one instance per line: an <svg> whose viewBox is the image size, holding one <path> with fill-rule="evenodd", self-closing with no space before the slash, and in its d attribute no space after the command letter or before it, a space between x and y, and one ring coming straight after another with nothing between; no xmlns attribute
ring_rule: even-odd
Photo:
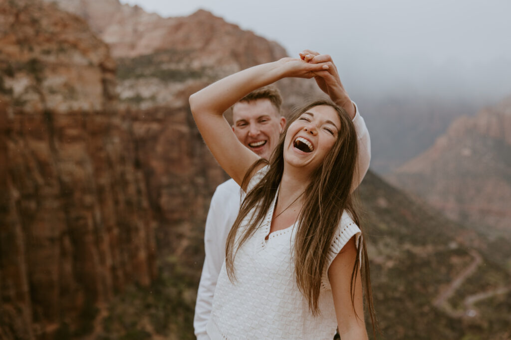
<svg viewBox="0 0 511 340"><path fill-rule="evenodd" d="M511 336L511 274L501 265L511 258L511 249L503 247L505 241L487 243L371 171L359 196L382 330L379 338L505 340ZM201 241L188 239L197 249ZM171 261L173 275L163 275L150 292L131 289L115 298L98 334L195 338L192 320L201 263L182 258L167 263ZM177 325L167 320L177 320Z"/></svg>

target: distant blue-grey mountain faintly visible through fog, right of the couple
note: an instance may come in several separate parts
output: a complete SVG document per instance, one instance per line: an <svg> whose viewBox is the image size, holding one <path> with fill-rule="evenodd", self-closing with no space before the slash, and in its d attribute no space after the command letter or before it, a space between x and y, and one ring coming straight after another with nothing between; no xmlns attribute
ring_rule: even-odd
<svg viewBox="0 0 511 340"><path fill-rule="evenodd" d="M430 148L456 118L474 116L480 108L470 100L420 94L374 98L353 93L353 98L370 128L371 169L384 175Z"/></svg>

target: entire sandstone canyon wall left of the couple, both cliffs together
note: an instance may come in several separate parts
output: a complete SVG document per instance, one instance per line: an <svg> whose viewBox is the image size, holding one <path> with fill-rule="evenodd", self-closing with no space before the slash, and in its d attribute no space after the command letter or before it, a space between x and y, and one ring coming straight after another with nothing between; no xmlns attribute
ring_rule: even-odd
<svg viewBox="0 0 511 340"><path fill-rule="evenodd" d="M188 96L227 72L285 56L277 44L204 11L174 20L117 1L62 4L85 6L96 33L53 2L0 1L2 338L90 331L98 303L128 283L153 281L156 248L195 280L208 202L226 176L198 135ZM102 25L117 22L111 4L128 13L118 30L131 19L143 35L152 36L154 23L167 30L142 48L142 68L119 81L109 53L116 47L98 38ZM197 20L204 21L199 33ZM144 40L132 29L121 36ZM192 39L203 32L202 41ZM203 54L206 46L216 54ZM145 106L119 100L125 81L137 95L152 88L162 99L151 94Z"/></svg>

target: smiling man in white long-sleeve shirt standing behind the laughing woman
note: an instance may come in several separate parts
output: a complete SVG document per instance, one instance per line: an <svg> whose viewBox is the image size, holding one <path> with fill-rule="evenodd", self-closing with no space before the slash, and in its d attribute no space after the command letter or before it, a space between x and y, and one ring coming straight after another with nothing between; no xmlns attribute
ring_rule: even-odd
<svg viewBox="0 0 511 340"><path fill-rule="evenodd" d="M319 55L309 50L300 54L300 57L312 63L332 61L328 55ZM333 62L329 72L318 74L316 83L353 119L359 145L358 178L355 180L356 183L354 182L354 185L358 186L369 168L370 160L369 133L365 122L358 113L355 103L344 91ZM281 105L282 97L278 89L267 86L249 93L232 108L232 127L238 140L267 160L286 125L286 118L281 114ZM301 143L303 145L300 148L304 148L304 152L306 149L312 151L313 145L306 138ZM238 216L240 203L240 187L233 179L219 185L211 199L204 229L204 265L195 305L194 330L198 340L209 339L206 334L206 324L211 316L218 275L225 258L227 234Z"/></svg>

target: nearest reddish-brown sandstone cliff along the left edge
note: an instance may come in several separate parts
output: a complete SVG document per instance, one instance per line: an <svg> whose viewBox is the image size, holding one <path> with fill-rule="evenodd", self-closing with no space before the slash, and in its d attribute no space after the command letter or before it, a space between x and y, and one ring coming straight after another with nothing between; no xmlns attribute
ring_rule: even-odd
<svg viewBox="0 0 511 340"><path fill-rule="evenodd" d="M30 0L0 1L0 46L0 338L79 334L156 275L115 63L83 20Z"/></svg>

